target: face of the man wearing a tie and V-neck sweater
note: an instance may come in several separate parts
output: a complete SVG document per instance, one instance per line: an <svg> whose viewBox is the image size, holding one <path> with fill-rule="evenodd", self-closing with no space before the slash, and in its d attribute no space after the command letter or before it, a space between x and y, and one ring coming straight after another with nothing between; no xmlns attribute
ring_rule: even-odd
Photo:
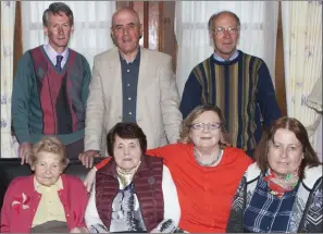
<svg viewBox="0 0 323 234"><path fill-rule="evenodd" d="M48 26L44 26L44 34L48 36L50 46L57 52L63 52L73 33L70 19L61 12L60 14L48 14Z"/></svg>

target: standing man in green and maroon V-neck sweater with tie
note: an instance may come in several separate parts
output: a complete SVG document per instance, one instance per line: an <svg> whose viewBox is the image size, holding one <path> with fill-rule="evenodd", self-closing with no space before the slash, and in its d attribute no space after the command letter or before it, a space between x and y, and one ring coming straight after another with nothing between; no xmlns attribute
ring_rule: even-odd
<svg viewBox="0 0 323 234"><path fill-rule="evenodd" d="M42 14L48 45L26 51L18 61L12 91L12 120L22 164L32 145L55 136L69 158L84 151L86 101L90 67L80 53L67 48L73 33L72 10L54 2Z"/></svg>

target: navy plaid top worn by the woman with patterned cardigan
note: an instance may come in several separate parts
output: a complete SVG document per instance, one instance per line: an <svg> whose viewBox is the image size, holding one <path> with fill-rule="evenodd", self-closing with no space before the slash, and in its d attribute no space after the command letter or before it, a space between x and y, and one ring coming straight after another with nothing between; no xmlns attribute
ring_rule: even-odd
<svg viewBox="0 0 323 234"><path fill-rule="evenodd" d="M252 198L244 213L244 231L257 233L290 232L291 209L299 187L284 194L282 198L270 193L263 175L260 176Z"/></svg>

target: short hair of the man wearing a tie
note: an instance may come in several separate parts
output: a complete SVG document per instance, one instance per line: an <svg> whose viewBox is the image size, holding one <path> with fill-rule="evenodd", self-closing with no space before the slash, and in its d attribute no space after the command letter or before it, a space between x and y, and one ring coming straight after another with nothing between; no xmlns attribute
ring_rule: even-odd
<svg viewBox="0 0 323 234"><path fill-rule="evenodd" d="M63 2L53 2L51 3L48 9L45 10L42 13L42 25L48 27L48 14L59 14L61 15L64 13L70 19L70 26L74 25L74 16L73 11Z"/></svg>

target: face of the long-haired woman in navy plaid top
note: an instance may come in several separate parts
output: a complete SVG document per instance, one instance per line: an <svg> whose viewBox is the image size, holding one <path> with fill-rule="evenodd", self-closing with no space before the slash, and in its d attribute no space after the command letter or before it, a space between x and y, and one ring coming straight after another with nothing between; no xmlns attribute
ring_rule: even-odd
<svg viewBox="0 0 323 234"><path fill-rule="evenodd" d="M302 145L295 134L289 130L277 130L274 140L269 143L268 161L271 169L281 175L296 172L302 156Z"/></svg>

